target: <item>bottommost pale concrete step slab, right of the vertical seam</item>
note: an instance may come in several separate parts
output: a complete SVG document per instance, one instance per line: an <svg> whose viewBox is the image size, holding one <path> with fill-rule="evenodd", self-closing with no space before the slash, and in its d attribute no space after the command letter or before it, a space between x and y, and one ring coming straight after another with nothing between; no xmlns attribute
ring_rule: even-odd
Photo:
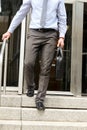
<svg viewBox="0 0 87 130"><path fill-rule="evenodd" d="M22 130L87 130L87 122L22 122Z"/></svg>

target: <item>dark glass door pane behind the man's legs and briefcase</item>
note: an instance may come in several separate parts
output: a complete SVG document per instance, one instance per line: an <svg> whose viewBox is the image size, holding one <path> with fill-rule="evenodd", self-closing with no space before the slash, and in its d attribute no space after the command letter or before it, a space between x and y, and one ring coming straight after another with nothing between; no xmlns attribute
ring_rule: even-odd
<svg viewBox="0 0 87 130"><path fill-rule="evenodd" d="M63 50L63 65L61 66L60 73L62 73L61 79L56 79L56 60L54 58L51 72L50 72L50 81L48 86L48 93L59 93L61 92L70 92L71 87L71 53L72 53L72 26L73 26L73 13L74 13L74 2L66 2L66 12L67 12L67 33L65 37L65 47ZM56 57L56 56L55 56ZM36 73L36 86L38 86L39 78L39 63L36 63L35 73ZM71 94L71 93L68 93Z"/></svg>

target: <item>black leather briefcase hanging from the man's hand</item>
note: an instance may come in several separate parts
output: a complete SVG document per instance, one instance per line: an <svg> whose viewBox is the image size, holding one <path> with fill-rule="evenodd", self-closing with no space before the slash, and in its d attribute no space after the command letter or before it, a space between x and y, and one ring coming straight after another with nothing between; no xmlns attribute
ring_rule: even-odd
<svg viewBox="0 0 87 130"><path fill-rule="evenodd" d="M63 50L58 47L56 52L56 80L61 79L63 79Z"/></svg>

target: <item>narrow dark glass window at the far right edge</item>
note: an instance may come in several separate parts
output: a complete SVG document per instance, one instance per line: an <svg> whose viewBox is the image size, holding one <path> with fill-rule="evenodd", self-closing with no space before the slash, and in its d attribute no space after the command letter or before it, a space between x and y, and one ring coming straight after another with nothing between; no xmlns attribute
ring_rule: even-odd
<svg viewBox="0 0 87 130"><path fill-rule="evenodd" d="M87 3L84 4L82 92L87 93Z"/></svg>

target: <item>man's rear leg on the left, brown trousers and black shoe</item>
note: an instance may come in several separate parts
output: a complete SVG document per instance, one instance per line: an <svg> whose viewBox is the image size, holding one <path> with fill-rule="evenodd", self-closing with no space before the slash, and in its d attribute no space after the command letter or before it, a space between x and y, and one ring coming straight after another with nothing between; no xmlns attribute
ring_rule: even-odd
<svg viewBox="0 0 87 130"><path fill-rule="evenodd" d="M32 36L33 35L33 36ZM36 56L38 54L39 44L34 37L34 32L30 30L30 34L27 37L25 65L24 65L24 78L27 85L27 96L32 97L34 95L34 65Z"/></svg>

